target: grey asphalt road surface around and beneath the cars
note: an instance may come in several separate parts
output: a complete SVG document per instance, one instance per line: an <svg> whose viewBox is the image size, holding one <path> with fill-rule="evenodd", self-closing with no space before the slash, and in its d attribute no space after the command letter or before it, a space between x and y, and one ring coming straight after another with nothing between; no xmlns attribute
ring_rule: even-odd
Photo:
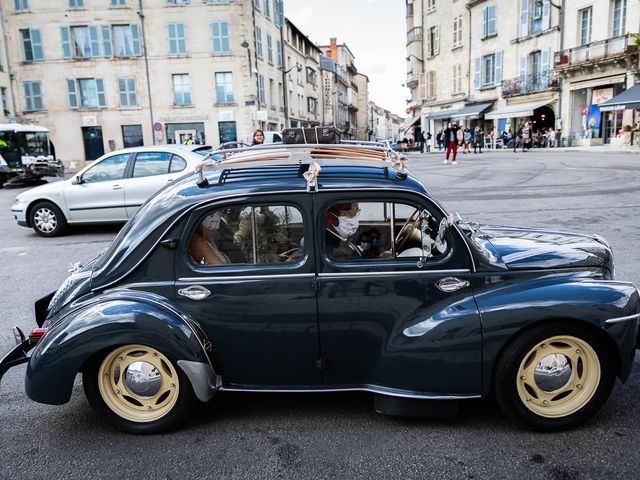
<svg viewBox="0 0 640 480"><path fill-rule="evenodd" d="M640 155L484 153L443 165L413 155L412 170L463 218L597 232L611 241L616 276L640 285ZM9 214L0 190L0 352L11 327L34 327L33 302L68 265L104 248L117 227L44 239ZM78 380L63 406L24 394L25 367L0 385L1 479L474 478L628 479L640 467L640 356L601 412L573 431L536 434L493 401L465 402L449 420L398 419L368 394L221 394L181 430L135 436L96 419Z"/></svg>

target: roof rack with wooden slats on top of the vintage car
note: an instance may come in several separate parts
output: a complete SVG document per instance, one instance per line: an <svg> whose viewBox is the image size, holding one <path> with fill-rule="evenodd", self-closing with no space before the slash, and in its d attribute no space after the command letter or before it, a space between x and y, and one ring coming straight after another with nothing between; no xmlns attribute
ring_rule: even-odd
<svg viewBox="0 0 640 480"><path fill-rule="evenodd" d="M209 181L204 170L232 170L309 165L303 173L307 191L318 189L317 177L322 166L393 167L398 178L406 179L407 157L394 152L379 142L342 141L331 144L269 144L210 152L194 169L198 174L198 186L205 188ZM223 178L221 175L220 178Z"/></svg>

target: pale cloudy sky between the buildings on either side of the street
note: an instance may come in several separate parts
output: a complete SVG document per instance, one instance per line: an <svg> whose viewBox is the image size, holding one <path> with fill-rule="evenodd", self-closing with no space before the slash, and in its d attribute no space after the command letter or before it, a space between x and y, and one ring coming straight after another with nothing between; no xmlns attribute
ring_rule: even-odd
<svg viewBox="0 0 640 480"><path fill-rule="evenodd" d="M402 0L284 0L285 15L316 44L336 37L369 77L369 100L406 117L406 20Z"/></svg>

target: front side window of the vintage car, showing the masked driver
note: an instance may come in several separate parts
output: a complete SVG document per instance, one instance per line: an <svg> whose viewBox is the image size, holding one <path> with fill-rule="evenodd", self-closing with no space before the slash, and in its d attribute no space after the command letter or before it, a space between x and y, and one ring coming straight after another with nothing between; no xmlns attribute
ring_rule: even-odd
<svg viewBox="0 0 640 480"><path fill-rule="evenodd" d="M335 203L324 216L325 242L336 260L421 261L442 258L450 247L433 215L396 202Z"/></svg>

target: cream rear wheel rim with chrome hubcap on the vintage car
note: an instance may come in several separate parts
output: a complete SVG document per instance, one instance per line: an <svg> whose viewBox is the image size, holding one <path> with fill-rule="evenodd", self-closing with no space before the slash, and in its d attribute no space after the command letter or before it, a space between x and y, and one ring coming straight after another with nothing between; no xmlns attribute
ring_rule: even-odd
<svg viewBox="0 0 640 480"><path fill-rule="evenodd" d="M107 406L132 422L152 422L176 404L179 379L162 353L144 345L126 345L111 352L98 372L98 388Z"/></svg>

